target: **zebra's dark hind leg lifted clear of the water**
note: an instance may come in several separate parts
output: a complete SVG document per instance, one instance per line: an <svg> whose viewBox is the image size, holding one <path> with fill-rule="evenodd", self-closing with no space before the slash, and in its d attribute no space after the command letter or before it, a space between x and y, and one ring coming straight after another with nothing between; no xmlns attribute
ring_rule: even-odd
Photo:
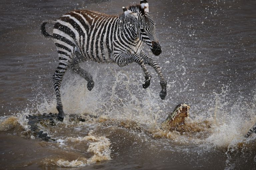
<svg viewBox="0 0 256 170"><path fill-rule="evenodd" d="M78 63L72 63L71 68L74 72L79 74L81 77L83 77L87 81L87 89L91 91L94 87L94 81L92 78L92 75L79 67Z"/></svg>

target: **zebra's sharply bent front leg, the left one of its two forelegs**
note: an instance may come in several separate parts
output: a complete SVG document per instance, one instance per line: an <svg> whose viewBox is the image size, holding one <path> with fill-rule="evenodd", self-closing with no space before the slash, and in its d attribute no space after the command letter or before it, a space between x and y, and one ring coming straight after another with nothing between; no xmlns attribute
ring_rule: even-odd
<svg viewBox="0 0 256 170"><path fill-rule="evenodd" d="M114 54L114 61L120 66L123 67L129 63L132 62L136 62L138 63L145 75L145 84L142 84L142 87L144 89L148 88L148 86L150 85L150 80L151 80L151 74L148 72L145 64L144 64L144 60L143 58L138 55L138 54L131 54L131 53L125 53L125 52L120 52L120 53L116 53Z"/></svg>

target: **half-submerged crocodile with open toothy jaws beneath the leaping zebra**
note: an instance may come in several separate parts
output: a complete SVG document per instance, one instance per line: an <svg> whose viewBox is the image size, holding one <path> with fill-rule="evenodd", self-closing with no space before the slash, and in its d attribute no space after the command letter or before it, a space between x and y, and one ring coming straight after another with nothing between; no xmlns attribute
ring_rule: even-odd
<svg viewBox="0 0 256 170"><path fill-rule="evenodd" d="M161 123L160 128L167 131L180 131L179 126L185 124L186 120L189 117L190 106L183 103L175 107L174 111L168 114L166 120ZM54 138L50 137L48 132L44 131L44 128L49 126L56 126L58 123L58 118L56 114L37 114L37 115L28 115L28 125L30 126L30 132L45 141L55 141ZM84 115L69 115L70 122L88 122L88 123L101 123L103 126L117 126L123 128L130 128L133 130L144 131L146 133L152 133L152 129L149 131L147 128L143 127L141 124L129 121L129 120L117 120L106 117L97 117L91 116L88 114ZM156 131L156 130L153 130Z"/></svg>

